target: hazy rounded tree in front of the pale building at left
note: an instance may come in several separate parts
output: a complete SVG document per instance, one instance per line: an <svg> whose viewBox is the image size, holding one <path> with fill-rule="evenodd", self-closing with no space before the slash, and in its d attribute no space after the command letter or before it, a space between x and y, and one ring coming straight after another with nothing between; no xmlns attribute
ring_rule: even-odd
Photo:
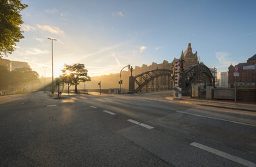
<svg viewBox="0 0 256 167"><path fill-rule="evenodd" d="M30 67L22 67L12 71L12 86L23 86L23 92L26 84L34 84L38 80L39 74Z"/></svg>

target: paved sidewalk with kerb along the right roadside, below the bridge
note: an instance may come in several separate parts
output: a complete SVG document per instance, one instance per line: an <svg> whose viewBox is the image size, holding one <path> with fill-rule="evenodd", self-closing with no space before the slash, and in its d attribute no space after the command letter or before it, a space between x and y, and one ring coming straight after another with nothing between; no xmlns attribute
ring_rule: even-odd
<svg viewBox="0 0 256 167"><path fill-rule="evenodd" d="M182 97L181 100L173 99L175 102L183 102L186 104L195 104L200 106L212 106L217 108L229 108L233 110L247 110L256 112L256 103L237 102L236 106L233 100L206 100L200 98Z"/></svg>

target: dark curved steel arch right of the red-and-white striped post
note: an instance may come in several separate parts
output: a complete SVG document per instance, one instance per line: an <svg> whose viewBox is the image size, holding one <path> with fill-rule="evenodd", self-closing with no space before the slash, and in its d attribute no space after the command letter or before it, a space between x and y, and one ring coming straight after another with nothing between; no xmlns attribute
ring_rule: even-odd
<svg viewBox="0 0 256 167"><path fill-rule="evenodd" d="M198 76L205 75L204 82L211 83L213 86L215 84L213 74L210 69L203 64L191 65L187 69L184 70L182 77L182 92L188 94L190 88L194 81L198 78Z"/></svg>

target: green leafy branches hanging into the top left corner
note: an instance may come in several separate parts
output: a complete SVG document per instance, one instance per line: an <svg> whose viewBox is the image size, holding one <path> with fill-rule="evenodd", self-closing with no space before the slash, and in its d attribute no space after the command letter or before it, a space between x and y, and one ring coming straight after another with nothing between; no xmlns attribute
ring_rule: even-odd
<svg viewBox="0 0 256 167"><path fill-rule="evenodd" d="M28 7L20 0L0 0L0 56L11 54L16 42L24 38L20 26L23 24L20 11Z"/></svg>

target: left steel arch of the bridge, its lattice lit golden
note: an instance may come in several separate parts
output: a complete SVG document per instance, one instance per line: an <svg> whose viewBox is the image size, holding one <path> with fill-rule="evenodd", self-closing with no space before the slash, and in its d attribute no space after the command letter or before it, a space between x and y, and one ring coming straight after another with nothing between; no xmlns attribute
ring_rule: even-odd
<svg viewBox="0 0 256 167"><path fill-rule="evenodd" d="M169 69L154 69L129 78L129 92L171 90Z"/></svg>

